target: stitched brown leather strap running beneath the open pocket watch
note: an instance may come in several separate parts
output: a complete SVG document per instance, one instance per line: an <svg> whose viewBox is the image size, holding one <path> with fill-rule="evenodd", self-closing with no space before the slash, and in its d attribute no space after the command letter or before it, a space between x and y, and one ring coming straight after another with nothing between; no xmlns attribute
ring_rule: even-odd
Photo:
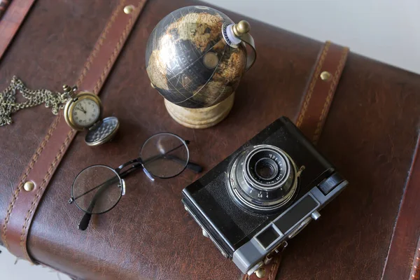
<svg viewBox="0 0 420 280"><path fill-rule="evenodd" d="M121 0L118 3L76 82L80 90L99 94L99 90L104 85L104 81L116 62L146 0L137 0L136 2L132 4ZM125 8L128 5L132 5L131 10ZM52 122L48 133L20 177L2 229L3 244L10 253L18 258L34 262L27 249L27 237L31 222L52 174L57 169L75 135L76 131L66 124L61 112ZM31 191L26 191L24 188L25 182L28 181L35 185Z"/></svg>

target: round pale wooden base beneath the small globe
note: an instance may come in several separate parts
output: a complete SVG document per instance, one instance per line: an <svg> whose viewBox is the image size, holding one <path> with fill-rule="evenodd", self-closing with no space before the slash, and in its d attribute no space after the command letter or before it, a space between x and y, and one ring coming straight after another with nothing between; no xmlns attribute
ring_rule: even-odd
<svg viewBox="0 0 420 280"><path fill-rule="evenodd" d="M177 123L190 128L207 128L217 125L228 116L234 100L235 92L223 102L207 108L184 108L167 101L167 99L165 99L165 106L169 115Z"/></svg>

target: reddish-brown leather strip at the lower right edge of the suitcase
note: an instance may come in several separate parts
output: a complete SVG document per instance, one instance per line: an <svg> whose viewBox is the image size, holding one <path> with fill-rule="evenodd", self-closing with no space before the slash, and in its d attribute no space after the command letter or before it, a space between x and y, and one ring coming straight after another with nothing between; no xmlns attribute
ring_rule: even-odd
<svg viewBox="0 0 420 280"><path fill-rule="evenodd" d="M386 258L382 279L401 279L411 270L411 279L420 279L420 134L408 174L397 223ZM401 260L411 260L414 263ZM411 267L411 265L413 267Z"/></svg>

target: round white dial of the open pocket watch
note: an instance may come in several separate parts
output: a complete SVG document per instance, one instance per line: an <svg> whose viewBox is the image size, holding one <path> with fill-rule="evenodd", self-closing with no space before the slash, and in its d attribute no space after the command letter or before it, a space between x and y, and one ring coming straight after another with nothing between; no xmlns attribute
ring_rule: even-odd
<svg viewBox="0 0 420 280"><path fill-rule="evenodd" d="M80 127L90 127L99 118L101 108L97 102L90 98L78 99L71 111L73 123Z"/></svg>

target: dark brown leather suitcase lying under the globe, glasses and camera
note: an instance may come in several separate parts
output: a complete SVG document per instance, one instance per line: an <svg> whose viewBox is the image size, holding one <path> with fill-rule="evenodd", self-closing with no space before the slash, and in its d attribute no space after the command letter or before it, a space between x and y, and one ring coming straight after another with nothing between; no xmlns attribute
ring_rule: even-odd
<svg viewBox="0 0 420 280"><path fill-rule="evenodd" d="M113 70L107 68L106 83L102 78L104 86L98 83L95 90L102 87L105 115L118 116L121 124L116 139L96 148L85 145L83 134L69 132L58 141L62 135L53 130L60 123L44 106L19 111L12 125L0 127L1 244L74 279L239 279L237 267L202 237L181 204L181 190L201 175L183 172L153 183L144 174L130 176L127 195L113 211L94 216L85 232L77 228L81 211L67 203L71 183L89 165L117 167L137 157L143 141L162 131L190 139L191 160L209 171L276 118L295 120L323 44L246 19L258 59L241 80L228 118L192 130L168 115L150 86L144 54L160 19L195 2L150 0L140 13L143 2L35 1L3 53L1 90L13 75L28 87L59 91L86 72L83 85L91 78L91 64L85 62L92 52L92 64L104 67L113 56ZM137 21L123 13L113 16L131 4ZM224 13L235 22L243 19ZM0 30L11 30L1 29L13 22L10 17L3 15ZM123 48L125 37L118 41L120 34L107 29L110 20L127 24L121 34L134 25ZM109 47L97 50L98 38L106 41L103 30L108 38L117 36L113 42L120 55ZM290 240L276 279L419 279L420 76L350 52L335 82L317 146L350 185L323 209L319 221ZM50 145L59 149L57 156L48 154ZM45 157L55 161L41 174L44 181L35 188L40 195L31 207L22 188L28 176L40 175L33 167ZM15 238L6 236L15 225L22 234L14 245L5 244ZM273 270L265 279L274 276Z"/></svg>

